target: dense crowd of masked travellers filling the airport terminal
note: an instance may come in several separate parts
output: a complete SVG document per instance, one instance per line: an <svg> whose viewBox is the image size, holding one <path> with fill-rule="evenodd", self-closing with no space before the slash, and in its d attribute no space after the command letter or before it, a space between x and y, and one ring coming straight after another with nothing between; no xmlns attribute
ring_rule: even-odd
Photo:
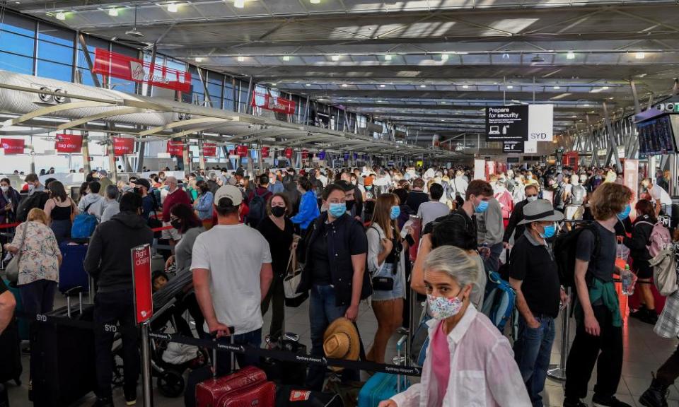
<svg viewBox="0 0 679 407"><path fill-rule="evenodd" d="M161 171L117 183L100 170L87 175L76 202L61 182L42 184L29 174L21 203L9 180L0 180L0 222L25 220L5 249L23 252L18 287L26 312L45 313L59 277L59 243L71 240L80 214L96 219L84 264L97 285L100 324L134 324L130 261L120 259L154 240L170 247L158 249L166 269L153 273L154 292L179 287L186 294L173 318L181 320L188 310L199 337L232 336L242 346L262 344L262 316L269 309L269 338L282 334L291 254L303 264L297 292L309 295L313 356L325 355L328 327L342 318L355 321L361 300L369 298L377 331L365 358L385 362L389 339L411 318L405 304L412 288L426 295L429 319L422 381L381 407L542 406L555 319L575 300L564 406L586 406L597 362L593 402L625 407L615 397L623 353L613 285L621 272L617 253L622 245L629 248L632 271L649 282L647 243L654 225L671 216L666 176L643 179L632 191L612 168L515 167L487 179L473 179L465 167L287 168L252 178L238 168L200 170L185 179ZM634 196L639 200L632 208ZM419 226L409 221L412 215ZM573 220L589 223L577 238L575 298L569 298L554 242L576 229ZM154 235L151 228L159 226L166 228ZM513 343L480 312L491 273L504 276L516 292ZM649 285L639 291L642 305L632 317L656 324ZM193 335L186 322L178 331ZM136 331L126 332L124 395L131 404L137 398L138 338ZM112 406L113 335L99 332L95 340L96 405ZM664 392L679 375L676 360L675 354L658 371L644 406L667 405ZM240 367L258 362L238 355ZM228 358L219 358L217 373L228 368ZM325 367L311 365L306 387L320 391L324 379ZM343 381L357 379L354 370L342 372Z"/></svg>

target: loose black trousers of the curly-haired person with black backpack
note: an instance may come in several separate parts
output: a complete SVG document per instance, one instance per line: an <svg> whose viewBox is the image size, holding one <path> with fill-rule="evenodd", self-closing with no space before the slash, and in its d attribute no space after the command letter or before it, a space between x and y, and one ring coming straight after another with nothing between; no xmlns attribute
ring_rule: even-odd
<svg viewBox="0 0 679 407"><path fill-rule="evenodd" d="M613 326L613 314L603 305L592 307L599 322L599 336L585 331L585 324L579 322L575 340L566 362L566 399L584 399L587 384L596 366L594 393L602 397L613 396L617 391L622 372L622 327ZM600 352L600 353L599 353Z"/></svg>

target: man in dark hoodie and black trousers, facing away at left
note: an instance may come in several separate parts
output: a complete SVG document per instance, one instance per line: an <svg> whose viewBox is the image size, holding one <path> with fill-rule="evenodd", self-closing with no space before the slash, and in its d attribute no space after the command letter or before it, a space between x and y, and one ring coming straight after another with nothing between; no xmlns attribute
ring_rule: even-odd
<svg viewBox="0 0 679 407"><path fill-rule="evenodd" d="M124 194L120 213L94 231L85 256L85 270L96 282L94 301L97 407L113 406L111 393L113 332L120 325L124 365L124 394L129 406L137 400L139 351L132 290L133 247L153 242L153 232L141 217L141 196Z"/></svg>

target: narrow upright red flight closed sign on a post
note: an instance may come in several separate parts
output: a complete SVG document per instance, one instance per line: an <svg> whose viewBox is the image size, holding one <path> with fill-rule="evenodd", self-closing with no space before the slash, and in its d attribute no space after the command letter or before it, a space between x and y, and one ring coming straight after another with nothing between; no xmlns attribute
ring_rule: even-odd
<svg viewBox="0 0 679 407"><path fill-rule="evenodd" d="M142 324L153 315L153 294L151 293L151 245L133 247L132 285L134 286L134 317Z"/></svg>

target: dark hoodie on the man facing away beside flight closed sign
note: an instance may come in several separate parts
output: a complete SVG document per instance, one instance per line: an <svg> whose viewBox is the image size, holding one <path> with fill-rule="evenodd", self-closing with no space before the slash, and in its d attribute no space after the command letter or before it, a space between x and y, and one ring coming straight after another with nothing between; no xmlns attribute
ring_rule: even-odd
<svg viewBox="0 0 679 407"><path fill-rule="evenodd" d="M134 212L117 213L98 225L85 256L85 271L97 283L97 292L132 290L130 250L152 242L151 228Z"/></svg>

